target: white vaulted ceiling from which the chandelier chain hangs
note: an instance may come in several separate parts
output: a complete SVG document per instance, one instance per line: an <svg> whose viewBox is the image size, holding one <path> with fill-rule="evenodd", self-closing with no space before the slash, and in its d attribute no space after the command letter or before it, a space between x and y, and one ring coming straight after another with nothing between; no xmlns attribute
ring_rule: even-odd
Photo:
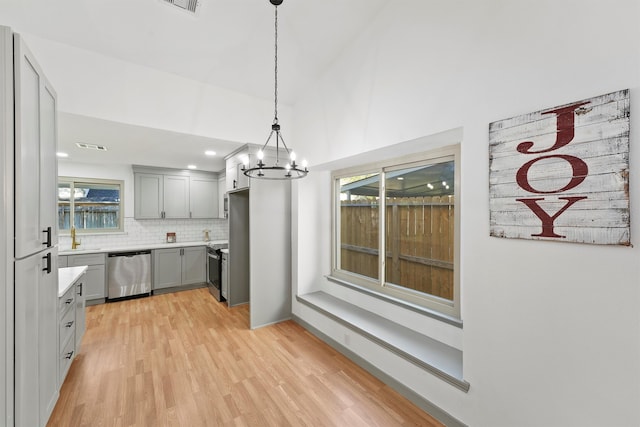
<svg viewBox="0 0 640 427"><path fill-rule="evenodd" d="M2 0L0 25L272 99L273 5L269 0L198 1L193 14L165 0ZM382 0L285 0L278 7L279 101L293 105L384 4ZM61 141L76 138L76 126L84 127L84 132L93 128L75 125L77 121L77 117L61 121ZM126 131L117 128L114 124L116 135ZM194 139L198 150L210 145ZM222 150L228 151L229 145Z"/></svg>

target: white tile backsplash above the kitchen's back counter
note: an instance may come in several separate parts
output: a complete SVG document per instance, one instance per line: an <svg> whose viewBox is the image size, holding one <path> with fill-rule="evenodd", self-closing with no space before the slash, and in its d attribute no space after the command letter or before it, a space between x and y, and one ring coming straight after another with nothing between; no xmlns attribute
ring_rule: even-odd
<svg viewBox="0 0 640 427"><path fill-rule="evenodd" d="M80 234L80 249L109 249L164 243L169 232L176 233L176 242L204 241L204 230L210 240L228 240L229 223L226 219L124 219L124 233ZM59 236L60 250L71 249L71 237Z"/></svg>

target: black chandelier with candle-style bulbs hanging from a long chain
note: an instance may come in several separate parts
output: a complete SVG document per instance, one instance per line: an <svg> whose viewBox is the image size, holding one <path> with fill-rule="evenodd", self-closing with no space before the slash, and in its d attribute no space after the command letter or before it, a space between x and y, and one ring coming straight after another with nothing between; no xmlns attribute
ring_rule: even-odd
<svg viewBox="0 0 640 427"><path fill-rule="evenodd" d="M283 0L269 0L275 6L275 85L274 85L274 114L273 123L271 124L271 132L260 151L257 153L257 163L252 167L249 164L243 164L242 171L249 178L259 179L298 179L307 176L307 162L303 160L301 164L296 163L296 154L289 150L282 139L280 133L280 124L278 123L278 6ZM272 164L264 163L265 149L275 136L276 150L275 160ZM281 146L282 145L282 149ZM268 154L268 153L266 153ZM284 165L282 164L284 163Z"/></svg>

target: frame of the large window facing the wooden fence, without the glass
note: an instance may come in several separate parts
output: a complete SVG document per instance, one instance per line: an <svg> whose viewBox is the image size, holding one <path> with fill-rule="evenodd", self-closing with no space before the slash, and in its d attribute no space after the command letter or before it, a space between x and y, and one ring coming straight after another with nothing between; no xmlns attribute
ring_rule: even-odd
<svg viewBox="0 0 640 427"><path fill-rule="evenodd" d="M340 179L354 175L365 175L370 173L379 174L379 196L378 196L378 247L386 247L386 198L385 183L386 173L393 170L407 168L411 166L442 163L446 161L454 162L454 242L453 242L453 300L430 295L423 292L413 291L409 288L394 285L386 281L386 257L378 256L378 279L373 279L356 273L338 268L340 265ZM460 144L449 145L434 150L419 152L398 158L363 164L344 169L334 170L331 173L331 276L338 281L371 290L373 293L382 294L394 300L415 305L429 311L443 314L447 317L461 319L460 315ZM379 253L383 253L382 250Z"/></svg>

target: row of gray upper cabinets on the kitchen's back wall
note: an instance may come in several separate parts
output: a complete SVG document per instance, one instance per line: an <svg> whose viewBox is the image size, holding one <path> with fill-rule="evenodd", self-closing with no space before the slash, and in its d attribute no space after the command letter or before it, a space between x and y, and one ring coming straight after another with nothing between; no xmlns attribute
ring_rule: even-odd
<svg viewBox="0 0 640 427"><path fill-rule="evenodd" d="M218 175L134 166L136 219L218 218Z"/></svg>

